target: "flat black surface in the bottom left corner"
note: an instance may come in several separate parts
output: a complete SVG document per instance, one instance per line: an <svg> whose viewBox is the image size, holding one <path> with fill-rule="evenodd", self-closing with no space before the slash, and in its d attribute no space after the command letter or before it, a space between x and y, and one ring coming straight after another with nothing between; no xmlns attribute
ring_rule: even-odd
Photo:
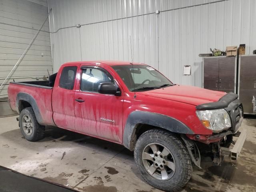
<svg viewBox="0 0 256 192"><path fill-rule="evenodd" d="M0 166L0 192L77 192Z"/></svg>

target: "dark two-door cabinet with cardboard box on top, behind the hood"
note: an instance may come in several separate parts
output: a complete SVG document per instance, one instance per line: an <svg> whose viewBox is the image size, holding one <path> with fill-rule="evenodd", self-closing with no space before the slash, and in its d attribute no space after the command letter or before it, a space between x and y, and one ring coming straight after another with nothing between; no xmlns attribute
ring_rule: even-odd
<svg viewBox="0 0 256 192"><path fill-rule="evenodd" d="M203 88L236 93L236 57L205 57L203 69Z"/></svg>

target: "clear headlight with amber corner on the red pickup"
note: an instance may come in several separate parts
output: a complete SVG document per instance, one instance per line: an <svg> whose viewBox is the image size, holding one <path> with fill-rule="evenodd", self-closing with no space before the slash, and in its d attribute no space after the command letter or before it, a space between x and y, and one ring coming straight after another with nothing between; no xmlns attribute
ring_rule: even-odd
<svg viewBox="0 0 256 192"><path fill-rule="evenodd" d="M204 126L213 132L231 127L230 117L224 109L196 111Z"/></svg>

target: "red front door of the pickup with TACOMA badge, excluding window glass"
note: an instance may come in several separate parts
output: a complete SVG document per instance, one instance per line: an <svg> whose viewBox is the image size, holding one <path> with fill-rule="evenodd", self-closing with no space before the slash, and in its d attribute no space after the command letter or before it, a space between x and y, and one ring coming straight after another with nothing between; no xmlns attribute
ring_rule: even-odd
<svg viewBox="0 0 256 192"><path fill-rule="evenodd" d="M82 64L81 66L95 66L95 64ZM97 66L108 70L102 64ZM75 130L90 134L91 136L122 143L123 93L122 96L114 96L95 92L83 92L80 90L79 83L81 76L82 70L80 69L77 75L75 99L82 99L84 102L74 102L76 115ZM102 121L100 118L115 120L115 123Z"/></svg>

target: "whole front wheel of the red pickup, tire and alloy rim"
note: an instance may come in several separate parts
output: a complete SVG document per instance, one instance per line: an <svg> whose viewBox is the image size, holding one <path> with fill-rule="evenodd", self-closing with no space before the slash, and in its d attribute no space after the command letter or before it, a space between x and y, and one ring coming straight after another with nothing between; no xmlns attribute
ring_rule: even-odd
<svg viewBox="0 0 256 192"><path fill-rule="evenodd" d="M134 159L142 178L160 190L178 191L192 174L192 162L182 141L162 130L148 130L138 138Z"/></svg>

